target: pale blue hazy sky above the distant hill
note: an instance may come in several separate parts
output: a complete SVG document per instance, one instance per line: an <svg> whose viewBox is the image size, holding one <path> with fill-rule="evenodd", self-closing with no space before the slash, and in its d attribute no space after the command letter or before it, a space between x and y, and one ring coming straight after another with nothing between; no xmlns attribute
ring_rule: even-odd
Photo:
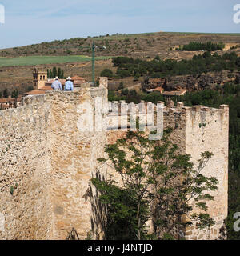
<svg viewBox="0 0 240 256"><path fill-rule="evenodd" d="M0 49L117 33L240 33L236 4L240 0L0 0Z"/></svg>

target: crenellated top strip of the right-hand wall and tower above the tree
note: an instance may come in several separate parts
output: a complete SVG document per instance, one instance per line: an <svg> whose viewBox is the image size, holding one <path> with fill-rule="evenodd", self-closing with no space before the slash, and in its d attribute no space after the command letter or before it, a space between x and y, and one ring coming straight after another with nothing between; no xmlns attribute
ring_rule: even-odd
<svg viewBox="0 0 240 256"><path fill-rule="evenodd" d="M107 115L108 130L118 130L121 127L130 127L130 118L139 119L146 127L157 125L158 115L161 116L165 126L172 126L174 123L198 123L200 126L206 126L205 122L225 122L228 120L229 107L220 106L219 109L209 108L206 106L184 106L182 102L178 102L174 106L173 102L164 105L164 102L158 102L155 105L152 102L141 102L139 104L125 101L108 102L109 113ZM158 119L159 120L159 119ZM171 124L171 125L170 125Z"/></svg>

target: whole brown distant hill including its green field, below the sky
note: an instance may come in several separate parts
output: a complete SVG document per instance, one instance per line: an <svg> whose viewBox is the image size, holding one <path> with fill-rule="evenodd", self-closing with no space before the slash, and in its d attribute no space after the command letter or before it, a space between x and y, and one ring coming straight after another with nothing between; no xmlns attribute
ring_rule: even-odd
<svg viewBox="0 0 240 256"><path fill-rule="evenodd" d="M114 34L94 38L72 38L54 42L42 42L30 46L14 47L0 50L0 91L10 92L18 89L25 93L32 85L34 67L41 70L52 69L54 66L64 70L66 75L80 75L91 79L91 46L95 42L96 78L102 70L110 69L116 73L110 57L127 56L151 60L157 55L162 58L176 60L193 58L202 51L178 51L179 46L190 42L223 42L224 50L234 50L240 56L240 34L200 34L200 33L145 33L145 34ZM222 51L219 51L222 54ZM136 86L134 78L123 79L124 85ZM111 81L119 86L118 80Z"/></svg>

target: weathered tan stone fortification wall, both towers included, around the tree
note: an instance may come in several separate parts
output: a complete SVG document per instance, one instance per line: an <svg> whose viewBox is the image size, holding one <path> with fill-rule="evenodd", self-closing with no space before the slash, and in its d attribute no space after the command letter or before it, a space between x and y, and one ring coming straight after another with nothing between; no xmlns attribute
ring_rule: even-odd
<svg viewBox="0 0 240 256"><path fill-rule="evenodd" d="M104 209L93 199L90 178L106 143L125 134L116 124L122 118L128 122L126 105L119 116L120 102L107 102L106 78L98 88L47 92L22 103L0 111L0 239L65 239L73 227L82 239L90 230L101 238L98 221ZM131 107L141 120L142 105ZM174 128L173 142L194 163L201 152L214 153L204 172L220 182L209 203L217 223L207 234L190 227L186 239L216 239L227 215L228 106L217 110L178 103L165 106L163 115L164 126Z"/></svg>

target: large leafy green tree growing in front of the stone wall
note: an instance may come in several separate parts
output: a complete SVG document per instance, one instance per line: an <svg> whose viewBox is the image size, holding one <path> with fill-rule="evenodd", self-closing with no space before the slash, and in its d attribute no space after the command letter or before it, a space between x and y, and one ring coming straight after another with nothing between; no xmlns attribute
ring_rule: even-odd
<svg viewBox="0 0 240 256"><path fill-rule="evenodd" d="M113 232L109 233L113 226L125 238L140 240L178 239L179 230L190 226L192 221L199 230L214 225L214 220L206 214L206 201L214 200L208 191L217 190L218 181L202 175L213 154L202 153L194 169L190 155L178 154L178 146L170 142L171 132L166 130L160 141L151 141L142 132L128 132L126 138L106 145L108 158L98 161L111 166L122 178L122 186L112 178L92 179L101 192L100 201L108 207L106 238L109 234L110 238L116 238ZM195 202L199 214L192 213L190 200ZM189 222L182 222L185 215L189 216ZM150 219L154 223L153 234L148 234L146 227Z"/></svg>

